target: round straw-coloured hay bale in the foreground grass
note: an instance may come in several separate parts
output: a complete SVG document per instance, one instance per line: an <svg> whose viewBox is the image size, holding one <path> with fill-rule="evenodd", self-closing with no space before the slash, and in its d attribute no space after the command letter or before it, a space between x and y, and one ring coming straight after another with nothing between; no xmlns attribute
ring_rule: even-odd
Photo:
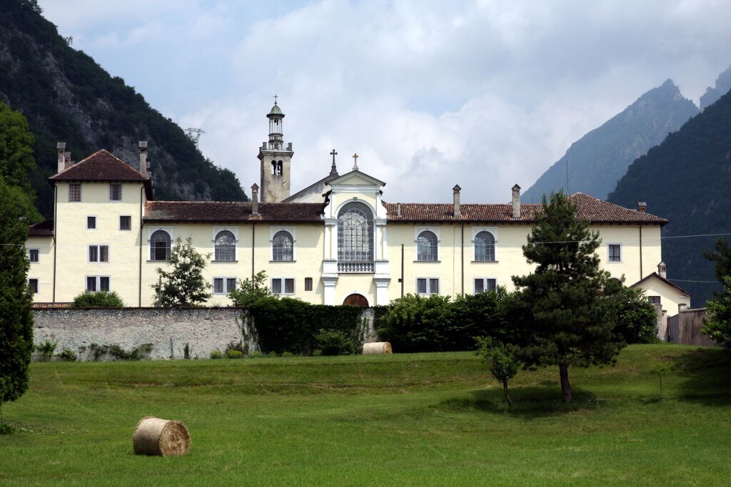
<svg viewBox="0 0 731 487"><path fill-rule="evenodd" d="M180 421L147 416L137 423L132 444L137 455L183 455L190 447L190 434Z"/></svg>

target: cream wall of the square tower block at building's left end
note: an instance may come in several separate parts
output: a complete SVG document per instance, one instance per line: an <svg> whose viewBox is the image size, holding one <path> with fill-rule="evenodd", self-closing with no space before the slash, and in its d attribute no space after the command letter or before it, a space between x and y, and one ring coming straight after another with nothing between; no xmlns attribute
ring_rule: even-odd
<svg viewBox="0 0 731 487"><path fill-rule="evenodd" d="M69 202L69 183L56 183L56 302L70 302L86 288L86 276L109 276L129 306L137 305L142 183L123 183L122 199L109 200L109 183L81 183L81 201ZM119 217L130 216L132 229L121 231ZM96 229L86 217L96 216ZM89 262L89 245L109 245L108 262Z"/></svg>

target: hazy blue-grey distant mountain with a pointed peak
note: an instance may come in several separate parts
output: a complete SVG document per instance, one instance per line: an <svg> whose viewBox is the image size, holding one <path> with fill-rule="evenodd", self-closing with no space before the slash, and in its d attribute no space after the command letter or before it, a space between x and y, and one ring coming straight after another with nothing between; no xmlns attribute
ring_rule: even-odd
<svg viewBox="0 0 731 487"><path fill-rule="evenodd" d="M606 199L635 158L697 113L693 102L683 98L673 81L667 80L574 142L523 198L539 203L544 193L564 189L567 193L580 191Z"/></svg>

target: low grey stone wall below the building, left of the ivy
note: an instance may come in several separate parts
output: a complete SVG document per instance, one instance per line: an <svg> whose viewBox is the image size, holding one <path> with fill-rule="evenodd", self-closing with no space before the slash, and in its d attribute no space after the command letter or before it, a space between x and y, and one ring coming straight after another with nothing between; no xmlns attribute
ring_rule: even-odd
<svg viewBox="0 0 731 487"><path fill-rule="evenodd" d="M91 360L91 343L119 345L124 350L152 343L150 358L183 358L186 343L191 358L208 358L211 350L242 340L236 308L121 308L34 309L36 344L58 342L56 353L74 350L79 360ZM80 348L86 351L80 353Z"/></svg>

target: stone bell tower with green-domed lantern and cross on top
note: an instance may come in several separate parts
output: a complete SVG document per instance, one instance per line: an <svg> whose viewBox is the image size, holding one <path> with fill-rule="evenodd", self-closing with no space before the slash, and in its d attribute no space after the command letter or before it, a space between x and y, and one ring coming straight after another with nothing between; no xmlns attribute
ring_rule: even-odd
<svg viewBox="0 0 731 487"><path fill-rule="evenodd" d="M269 142L262 143L259 160L262 168L262 203L277 203L289 197L289 170L292 164L292 142L284 148L284 113L274 96L274 106L267 114L269 119Z"/></svg>

